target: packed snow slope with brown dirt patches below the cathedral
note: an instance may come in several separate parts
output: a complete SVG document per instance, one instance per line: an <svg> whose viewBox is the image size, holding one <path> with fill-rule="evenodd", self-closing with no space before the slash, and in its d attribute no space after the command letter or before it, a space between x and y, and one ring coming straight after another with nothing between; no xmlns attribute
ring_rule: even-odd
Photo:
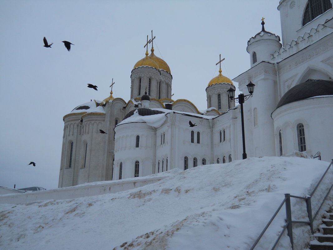
<svg viewBox="0 0 333 250"><path fill-rule="evenodd" d="M249 158L172 169L162 181L114 194L2 204L0 249L247 250L284 194L309 195L328 165L298 157ZM327 192L332 172L312 199L314 212L320 202L315 196ZM292 207L293 220L307 220L303 200L293 199ZM255 249L275 241L284 212ZM309 227L296 227L294 237L296 246L306 246ZM289 245L283 236L277 249Z"/></svg>

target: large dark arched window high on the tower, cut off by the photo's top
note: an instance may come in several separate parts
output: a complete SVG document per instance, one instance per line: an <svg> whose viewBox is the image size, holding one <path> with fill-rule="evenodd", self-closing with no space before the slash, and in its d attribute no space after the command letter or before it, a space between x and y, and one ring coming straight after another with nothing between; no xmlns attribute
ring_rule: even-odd
<svg viewBox="0 0 333 250"><path fill-rule="evenodd" d="M303 26L331 8L330 0L309 0L304 11Z"/></svg>

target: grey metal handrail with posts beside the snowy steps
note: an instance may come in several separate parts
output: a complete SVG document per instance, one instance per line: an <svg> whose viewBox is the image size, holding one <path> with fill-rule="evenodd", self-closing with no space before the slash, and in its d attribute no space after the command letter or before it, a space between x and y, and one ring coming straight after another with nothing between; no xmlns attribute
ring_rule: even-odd
<svg viewBox="0 0 333 250"><path fill-rule="evenodd" d="M311 195L308 197L300 197L300 196L294 196L294 195L290 195L290 194L284 194L284 199L281 203L281 205L278 207L278 209L275 211L274 215L272 216L272 218L269 220L269 222L267 223L267 225L265 226L265 228L262 230L262 232L260 233L260 235L258 236L258 238L256 239L256 241L253 243L252 247L250 248L250 250L253 250L255 248L255 246L258 244L259 240L261 239L261 237L263 236L263 234L266 232L267 228L269 227L269 225L271 224L271 222L274 220L275 216L278 214L278 212L280 211L280 209L282 208L282 206L285 204L285 208L286 208L286 223L283 226L283 229L281 231L281 233L279 234L277 240L275 241L273 247L271 248L271 250L274 250L274 248L276 247L277 243L279 242L281 236L283 235L284 231L287 229L287 235L290 238L290 243L291 243L291 248L292 250L294 249L294 243L293 243L293 237L292 237L292 223L303 223L303 224L308 224L310 226L311 229L311 233L313 234L313 221L315 220L316 216L319 213L319 210L321 209L322 205L324 204L328 194L330 193L333 184L331 185L330 189L328 190L325 198L323 199L322 203L320 204L319 208L317 209L317 212L315 213L314 216L312 216L312 207L311 207L311 197L313 196L313 194L316 192L319 184L321 183L321 181L324 179L326 173L328 172L328 170L330 169L330 167L333 164L333 159L330 163L330 165L327 167L325 173L323 174L323 176L321 177L321 179L319 180L319 182L317 183L316 187L314 188L314 190L312 191ZM306 202L306 210L308 213L308 218L309 221L293 221L291 220L291 205L290 205L290 197L293 198L298 198L298 199L303 199Z"/></svg>

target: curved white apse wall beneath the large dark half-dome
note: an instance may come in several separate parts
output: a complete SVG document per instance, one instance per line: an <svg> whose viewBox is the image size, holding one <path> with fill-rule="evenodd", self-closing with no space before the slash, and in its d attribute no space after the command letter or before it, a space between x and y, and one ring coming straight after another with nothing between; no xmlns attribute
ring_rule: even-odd
<svg viewBox="0 0 333 250"><path fill-rule="evenodd" d="M282 152L288 155L299 151L297 124L304 125L306 152L309 156L321 153L321 159L333 157L333 97L315 97L292 102L276 109L274 119L276 155L279 155L278 133L282 134Z"/></svg>

